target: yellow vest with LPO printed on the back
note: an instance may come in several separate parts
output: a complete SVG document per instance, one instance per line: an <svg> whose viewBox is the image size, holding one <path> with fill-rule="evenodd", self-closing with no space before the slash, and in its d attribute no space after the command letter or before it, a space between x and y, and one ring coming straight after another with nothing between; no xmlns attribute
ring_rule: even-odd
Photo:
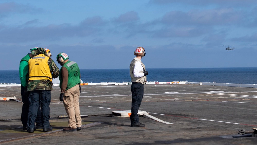
<svg viewBox="0 0 257 145"><path fill-rule="evenodd" d="M39 54L29 60L29 80L48 79L52 81L48 59L46 55Z"/></svg>

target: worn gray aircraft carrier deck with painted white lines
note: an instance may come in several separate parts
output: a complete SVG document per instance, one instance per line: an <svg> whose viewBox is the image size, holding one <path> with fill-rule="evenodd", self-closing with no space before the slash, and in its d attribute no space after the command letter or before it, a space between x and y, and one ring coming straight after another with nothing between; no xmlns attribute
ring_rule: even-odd
<svg viewBox="0 0 257 145"><path fill-rule="evenodd" d="M53 86L50 117L66 115ZM20 87L0 87L0 97L16 96ZM83 126L63 132L68 119L50 119L51 132L22 130L20 120L0 121L0 144L256 144L256 137L238 130L257 128L257 89L192 84L145 85L140 110L165 122L140 117L145 127L130 127L130 119L111 117L130 110L130 85L82 86L79 100ZM0 101L0 119L21 117L22 103ZM245 137L248 136L248 137Z"/></svg>

